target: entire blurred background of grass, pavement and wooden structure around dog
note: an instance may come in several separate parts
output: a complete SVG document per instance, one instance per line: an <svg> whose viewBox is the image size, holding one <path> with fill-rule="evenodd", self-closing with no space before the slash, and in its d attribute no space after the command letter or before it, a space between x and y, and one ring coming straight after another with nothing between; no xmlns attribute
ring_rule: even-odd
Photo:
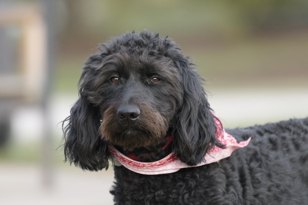
<svg viewBox="0 0 308 205"><path fill-rule="evenodd" d="M0 204L109 205L113 172L63 163L98 43L143 29L198 66L226 127L308 116L307 0L0 0Z"/></svg>

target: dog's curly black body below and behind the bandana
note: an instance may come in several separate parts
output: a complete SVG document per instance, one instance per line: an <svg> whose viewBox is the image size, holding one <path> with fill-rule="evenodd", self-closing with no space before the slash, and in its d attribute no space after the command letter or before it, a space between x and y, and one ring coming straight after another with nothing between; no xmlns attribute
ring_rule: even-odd
<svg viewBox="0 0 308 205"><path fill-rule="evenodd" d="M227 131L252 140L218 163L158 176L115 167L116 204L308 204L308 119Z"/></svg>

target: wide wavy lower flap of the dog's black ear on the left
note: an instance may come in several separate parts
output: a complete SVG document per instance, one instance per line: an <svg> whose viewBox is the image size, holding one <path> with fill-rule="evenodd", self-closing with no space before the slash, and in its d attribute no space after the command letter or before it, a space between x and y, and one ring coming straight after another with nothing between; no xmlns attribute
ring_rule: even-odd
<svg viewBox="0 0 308 205"><path fill-rule="evenodd" d="M98 135L99 120L99 111L80 97L63 121L65 161L90 171L108 168L109 152Z"/></svg>

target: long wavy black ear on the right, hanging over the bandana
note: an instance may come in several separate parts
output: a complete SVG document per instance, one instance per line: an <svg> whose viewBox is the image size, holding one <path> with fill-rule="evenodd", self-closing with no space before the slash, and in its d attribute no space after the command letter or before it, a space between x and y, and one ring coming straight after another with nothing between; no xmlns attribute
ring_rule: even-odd
<svg viewBox="0 0 308 205"><path fill-rule="evenodd" d="M215 116L201 85L203 79L187 57L177 58L175 64L182 72L183 102L176 114L173 151L181 161L196 165L213 146L223 145L216 139Z"/></svg>

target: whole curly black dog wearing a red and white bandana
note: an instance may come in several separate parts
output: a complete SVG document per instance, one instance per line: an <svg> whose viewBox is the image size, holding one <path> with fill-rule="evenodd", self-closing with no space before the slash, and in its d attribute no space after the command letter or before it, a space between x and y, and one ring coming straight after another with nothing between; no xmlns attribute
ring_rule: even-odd
<svg viewBox="0 0 308 205"><path fill-rule="evenodd" d="M224 132L171 39L132 32L99 51L63 122L64 153L90 171L112 159L116 205L308 205L308 118Z"/></svg>

